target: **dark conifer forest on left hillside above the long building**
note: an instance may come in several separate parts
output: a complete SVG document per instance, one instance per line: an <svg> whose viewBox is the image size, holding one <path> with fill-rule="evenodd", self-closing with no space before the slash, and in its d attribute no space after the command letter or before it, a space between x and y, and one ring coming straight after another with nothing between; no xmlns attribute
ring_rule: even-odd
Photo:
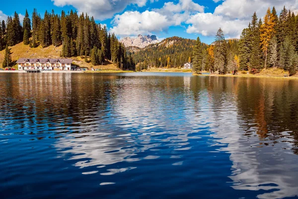
<svg viewBox="0 0 298 199"><path fill-rule="evenodd" d="M32 23L31 23L32 20ZM61 14L45 11L44 16L34 9L30 19L26 14L21 25L19 16L8 16L6 23L0 25L0 50L6 45L13 46L22 42L32 48L50 45L62 45L61 56L90 56L94 65L104 62L104 58L116 63L123 70L134 70L132 57L114 34L107 31L106 26L97 24L92 17L71 10Z"/></svg>

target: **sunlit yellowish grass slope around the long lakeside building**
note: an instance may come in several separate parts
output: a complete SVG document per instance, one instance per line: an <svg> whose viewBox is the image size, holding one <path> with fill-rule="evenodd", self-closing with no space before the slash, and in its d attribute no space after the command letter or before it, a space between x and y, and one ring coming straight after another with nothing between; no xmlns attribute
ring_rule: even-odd
<svg viewBox="0 0 298 199"><path fill-rule="evenodd" d="M37 47L30 48L29 45L24 45L23 42L16 44L15 46L10 46L11 58L12 61L16 61L19 58L57 58L60 56L60 52L62 50L62 46L55 47L49 46L46 48ZM0 51L0 68L2 68L2 62L4 59L4 51ZM93 67L94 69L101 69L100 66L93 66L91 63L87 63L81 57L72 57L74 60L74 64L81 67ZM117 66L113 64L111 61L106 60L104 65L102 66L103 70L118 70Z"/></svg>

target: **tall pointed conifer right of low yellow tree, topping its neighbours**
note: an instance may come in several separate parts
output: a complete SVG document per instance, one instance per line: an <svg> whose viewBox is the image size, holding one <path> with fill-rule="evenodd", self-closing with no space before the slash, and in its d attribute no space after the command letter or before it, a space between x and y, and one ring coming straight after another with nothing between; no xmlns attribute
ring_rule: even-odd
<svg viewBox="0 0 298 199"><path fill-rule="evenodd" d="M215 39L214 57L215 70L224 74L226 72L226 41L221 28L218 30Z"/></svg>

